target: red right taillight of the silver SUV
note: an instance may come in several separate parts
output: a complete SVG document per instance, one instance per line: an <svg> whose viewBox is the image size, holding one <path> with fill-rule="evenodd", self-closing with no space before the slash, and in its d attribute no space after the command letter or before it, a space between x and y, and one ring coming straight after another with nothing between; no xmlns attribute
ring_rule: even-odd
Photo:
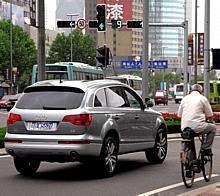
<svg viewBox="0 0 220 196"><path fill-rule="evenodd" d="M79 126L89 126L92 122L92 114L67 115L64 116L62 121Z"/></svg>

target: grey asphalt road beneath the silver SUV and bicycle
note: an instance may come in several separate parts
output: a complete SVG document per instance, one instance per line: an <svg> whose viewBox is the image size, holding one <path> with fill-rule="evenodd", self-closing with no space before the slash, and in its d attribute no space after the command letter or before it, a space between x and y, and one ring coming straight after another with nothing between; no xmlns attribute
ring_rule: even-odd
<svg viewBox="0 0 220 196"><path fill-rule="evenodd" d="M34 177L18 174L11 157L0 158L0 195L4 196L172 196L220 181L220 138L216 138L214 171L210 182L196 175L192 189L182 184L179 163L180 141L169 141L168 156L163 164L149 164L144 153L119 157L119 168L112 178L103 179L99 168L80 163L42 163ZM152 192L154 191L154 192Z"/></svg>

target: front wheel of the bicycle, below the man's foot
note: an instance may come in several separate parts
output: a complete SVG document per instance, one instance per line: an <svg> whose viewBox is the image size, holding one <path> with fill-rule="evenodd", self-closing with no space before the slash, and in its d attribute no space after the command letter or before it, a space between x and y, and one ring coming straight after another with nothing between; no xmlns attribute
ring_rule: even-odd
<svg viewBox="0 0 220 196"><path fill-rule="evenodd" d="M202 174L206 182L211 179L212 176L212 156L201 156Z"/></svg>

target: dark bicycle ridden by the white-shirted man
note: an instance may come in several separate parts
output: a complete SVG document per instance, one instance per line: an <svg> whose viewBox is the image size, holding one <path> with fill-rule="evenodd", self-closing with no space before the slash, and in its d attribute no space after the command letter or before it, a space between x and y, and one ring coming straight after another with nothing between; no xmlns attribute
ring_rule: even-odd
<svg viewBox="0 0 220 196"><path fill-rule="evenodd" d="M192 187L195 173L202 172L206 182L212 175L212 155L205 155L201 152L201 146L207 138L207 134L196 134L191 128L187 127L182 134L182 150L180 152L181 172L184 185L187 188ZM198 156L196 156L196 147L194 138L198 136L201 142Z"/></svg>

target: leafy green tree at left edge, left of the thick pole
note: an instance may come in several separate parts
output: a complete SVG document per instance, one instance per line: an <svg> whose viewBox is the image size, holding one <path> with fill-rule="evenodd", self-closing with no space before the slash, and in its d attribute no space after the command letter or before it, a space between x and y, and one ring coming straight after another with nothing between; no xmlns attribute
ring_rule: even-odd
<svg viewBox="0 0 220 196"><path fill-rule="evenodd" d="M5 77L10 68L10 29L9 20L0 20L0 74ZM37 50L30 36L17 25L12 25L12 66L19 72L19 90L29 85L33 64L37 61Z"/></svg>

